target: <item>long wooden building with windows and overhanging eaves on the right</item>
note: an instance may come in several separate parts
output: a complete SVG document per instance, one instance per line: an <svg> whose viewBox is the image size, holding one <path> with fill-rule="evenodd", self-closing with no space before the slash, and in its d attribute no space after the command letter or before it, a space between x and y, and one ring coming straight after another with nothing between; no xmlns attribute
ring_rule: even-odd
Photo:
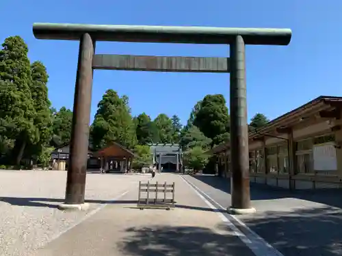
<svg viewBox="0 0 342 256"><path fill-rule="evenodd" d="M249 133L250 182L291 189L342 188L342 97L320 96ZM230 145L213 147L231 177Z"/></svg>

